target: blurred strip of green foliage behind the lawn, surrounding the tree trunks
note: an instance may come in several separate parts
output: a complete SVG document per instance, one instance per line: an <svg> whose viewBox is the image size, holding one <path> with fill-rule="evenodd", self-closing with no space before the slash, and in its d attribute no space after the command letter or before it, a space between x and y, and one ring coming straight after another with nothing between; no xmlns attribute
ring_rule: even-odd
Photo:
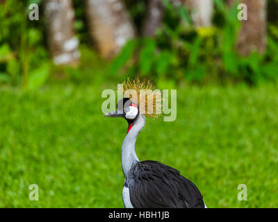
<svg viewBox="0 0 278 222"><path fill-rule="evenodd" d="M124 1L140 33L147 0ZM0 85L35 89L49 79L69 79L81 83L87 82L89 76L95 73L107 77L106 71L112 79L126 75L149 76L168 87L185 81L202 84L243 81L253 85L277 79L277 0L268 1L268 50L262 56L254 52L249 57L238 56L235 49L240 28L236 19L236 7L229 9L222 0L215 0L213 27L196 29L186 8L163 1L166 11L163 26L156 37L138 37L128 42L108 67L108 71L108 62L90 50L94 42L88 33L84 1L73 0L76 18L74 28L82 45L81 53L85 53L77 68L55 67L51 63L47 51L42 0L1 1ZM39 21L28 19L31 11L28 6L31 3L40 6ZM92 76L92 79L95 78Z"/></svg>

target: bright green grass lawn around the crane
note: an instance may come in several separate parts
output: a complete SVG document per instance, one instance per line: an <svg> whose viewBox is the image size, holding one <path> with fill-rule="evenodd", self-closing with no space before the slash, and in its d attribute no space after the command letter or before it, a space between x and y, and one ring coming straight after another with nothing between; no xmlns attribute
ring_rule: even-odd
<svg viewBox="0 0 278 222"><path fill-rule="evenodd" d="M127 124L101 113L101 90L0 90L0 207L123 207ZM136 151L179 169L208 207L278 207L275 87L178 89L177 120L147 119ZM37 184L39 201L28 199ZM247 201L237 199L247 185Z"/></svg>

